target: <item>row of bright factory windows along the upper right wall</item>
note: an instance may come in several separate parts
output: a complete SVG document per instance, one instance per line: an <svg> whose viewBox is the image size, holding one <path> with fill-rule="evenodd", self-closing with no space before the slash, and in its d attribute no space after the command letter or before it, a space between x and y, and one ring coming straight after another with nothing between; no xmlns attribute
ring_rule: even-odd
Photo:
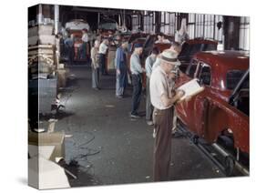
<svg viewBox="0 0 256 193"><path fill-rule="evenodd" d="M184 14L183 14L184 15ZM185 14L186 15L186 14ZM146 33L156 32L156 12L143 12L143 27ZM223 16L222 15L204 15L204 14L188 14L187 29L189 38L209 38L223 42ZM159 12L160 32L175 36L178 26L179 17L178 13ZM132 16L132 27L138 29L139 16ZM250 18L241 16L241 24L239 29L239 49L250 49Z"/></svg>

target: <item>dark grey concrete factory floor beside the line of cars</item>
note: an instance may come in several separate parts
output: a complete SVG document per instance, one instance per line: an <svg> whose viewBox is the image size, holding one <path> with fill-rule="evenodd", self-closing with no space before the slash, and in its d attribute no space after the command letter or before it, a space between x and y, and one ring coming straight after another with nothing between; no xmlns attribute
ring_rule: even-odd
<svg viewBox="0 0 256 193"><path fill-rule="evenodd" d="M129 117L132 88L127 97L115 97L115 75L101 76L101 90L91 88L89 66L69 67L76 78L68 82L56 117L56 131L67 135L67 168L77 176L70 185L112 185L151 182L153 168L152 127L145 117ZM145 112L142 97L140 111ZM172 140L170 180L225 177L187 138Z"/></svg>

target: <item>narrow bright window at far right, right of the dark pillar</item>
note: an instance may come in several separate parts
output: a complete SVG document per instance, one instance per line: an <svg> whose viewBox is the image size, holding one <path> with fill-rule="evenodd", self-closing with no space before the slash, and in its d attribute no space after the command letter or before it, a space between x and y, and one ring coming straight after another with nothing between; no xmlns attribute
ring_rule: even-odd
<svg viewBox="0 0 256 193"><path fill-rule="evenodd" d="M239 49L250 50L250 17L241 16L241 24L239 29Z"/></svg>

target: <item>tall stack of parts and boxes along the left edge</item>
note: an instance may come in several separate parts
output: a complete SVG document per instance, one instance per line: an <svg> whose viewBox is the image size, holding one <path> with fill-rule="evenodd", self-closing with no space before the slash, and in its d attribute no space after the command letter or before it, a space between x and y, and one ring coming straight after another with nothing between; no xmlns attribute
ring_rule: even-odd
<svg viewBox="0 0 256 193"><path fill-rule="evenodd" d="M58 64L53 29L53 25L37 25L28 29L28 96L35 100L34 104L42 115L56 109L53 107L56 106L57 89L66 86L67 70Z"/></svg>

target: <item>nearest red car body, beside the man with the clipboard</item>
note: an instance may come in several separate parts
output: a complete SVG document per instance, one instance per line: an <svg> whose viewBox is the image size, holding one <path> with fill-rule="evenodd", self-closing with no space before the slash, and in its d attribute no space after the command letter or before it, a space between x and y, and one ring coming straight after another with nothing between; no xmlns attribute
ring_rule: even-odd
<svg viewBox="0 0 256 193"><path fill-rule="evenodd" d="M209 51L193 56L177 86L196 77L205 89L176 106L181 122L209 143L228 133L234 147L249 154L249 80L248 88L240 89L245 102L241 107L230 104L235 86L248 69L249 55L244 52Z"/></svg>

